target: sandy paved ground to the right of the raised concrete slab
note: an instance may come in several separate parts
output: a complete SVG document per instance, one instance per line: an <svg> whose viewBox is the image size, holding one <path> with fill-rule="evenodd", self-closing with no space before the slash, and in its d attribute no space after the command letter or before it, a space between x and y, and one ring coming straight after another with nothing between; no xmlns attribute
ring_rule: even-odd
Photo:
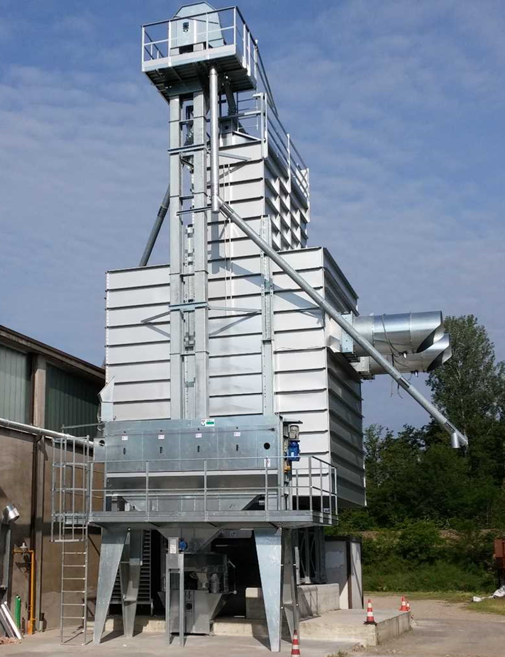
<svg viewBox="0 0 505 657"><path fill-rule="evenodd" d="M398 597L372 597L374 609L399 603ZM472 612L464 604L414 600L413 629L384 646L367 648L363 657L504 657L505 616ZM477 604L477 603L476 603Z"/></svg>

